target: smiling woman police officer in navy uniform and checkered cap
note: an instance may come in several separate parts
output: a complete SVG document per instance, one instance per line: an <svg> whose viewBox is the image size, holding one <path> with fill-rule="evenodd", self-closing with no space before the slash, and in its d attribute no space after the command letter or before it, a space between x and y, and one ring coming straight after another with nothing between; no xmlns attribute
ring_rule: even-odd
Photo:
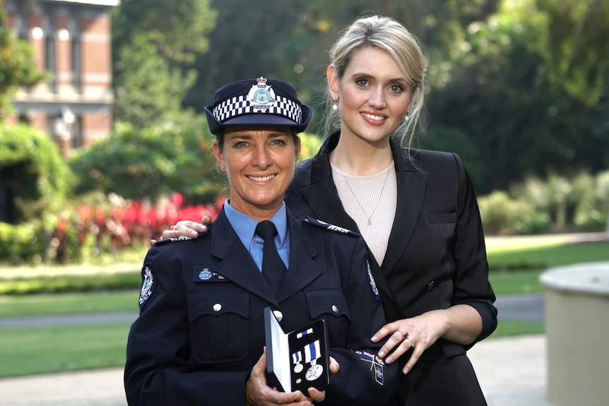
<svg viewBox="0 0 609 406"><path fill-rule="evenodd" d="M370 340L385 318L364 241L297 220L283 202L300 154L297 133L312 110L289 83L258 78L218 89L206 115L230 198L205 238L166 239L146 255L127 344L129 405L386 404L398 366L384 365L375 356L383 343ZM265 245L259 234L268 220L276 235ZM271 257L279 265L268 270ZM267 307L285 332L324 320L330 370L304 348L289 361L290 374L311 388L268 385ZM320 374L329 385L315 388Z"/></svg>

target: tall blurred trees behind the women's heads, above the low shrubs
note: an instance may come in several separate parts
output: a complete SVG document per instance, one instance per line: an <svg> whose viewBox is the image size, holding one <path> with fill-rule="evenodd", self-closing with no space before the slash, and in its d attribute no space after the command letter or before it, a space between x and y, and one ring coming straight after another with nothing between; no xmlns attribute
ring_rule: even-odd
<svg viewBox="0 0 609 406"><path fill-rule="evenodd" d="M609 167L601 0L122 1L113 15L115 117L138 129L162 124L184 109L203 112L224 83L266 76L297 86L317 109L315 132L327 51L371 13L420 38L430 69L418 144L459 153L478 193Z"/></svg>

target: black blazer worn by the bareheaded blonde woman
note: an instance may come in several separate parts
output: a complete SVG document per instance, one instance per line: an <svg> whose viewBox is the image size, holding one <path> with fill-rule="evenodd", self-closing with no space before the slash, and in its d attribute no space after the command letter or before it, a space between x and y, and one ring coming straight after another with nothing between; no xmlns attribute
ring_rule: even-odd
<svg viewBox="0 0 609 406"><path fill-rule="evenodd" d="M357 230L332 179L329 153L337 143L334 133L314 158L299 163L285 202L297 216L312 215ZM369 256L387 319L469 304L482 317L483 331L476 341L483 340L497 327L497 309L471 179L454 153L407 150L393 139L391 150L398 184L394 226L382 265ZM438 340L401 376L403 402L485 405L465 353L463 345Z"/></svg>

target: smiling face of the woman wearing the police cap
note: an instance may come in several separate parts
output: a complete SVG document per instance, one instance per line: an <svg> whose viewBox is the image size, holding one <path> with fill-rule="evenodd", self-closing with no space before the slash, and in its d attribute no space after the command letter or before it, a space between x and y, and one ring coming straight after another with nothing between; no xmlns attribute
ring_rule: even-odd
<svg viewBox="0 0 609 406"><path fill-rule="evenodd" d="M300 139L288 127L235 126L225 131L221 149L213 143L213 153L230 182L231 207L268 220L294 177Z"/></svg>

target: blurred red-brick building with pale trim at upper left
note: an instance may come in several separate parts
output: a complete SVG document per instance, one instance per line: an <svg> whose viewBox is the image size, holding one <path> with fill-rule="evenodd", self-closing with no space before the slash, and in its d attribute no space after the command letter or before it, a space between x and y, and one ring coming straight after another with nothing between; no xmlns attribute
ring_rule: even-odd
<svg viewBox="0 0 609 406"><path fill-rule="evenodd" d="M5 0L13 32L32 44L46 83L20 89L16 116L45 131L64 155L112 131L110 10L120 0Z"/></svg>

